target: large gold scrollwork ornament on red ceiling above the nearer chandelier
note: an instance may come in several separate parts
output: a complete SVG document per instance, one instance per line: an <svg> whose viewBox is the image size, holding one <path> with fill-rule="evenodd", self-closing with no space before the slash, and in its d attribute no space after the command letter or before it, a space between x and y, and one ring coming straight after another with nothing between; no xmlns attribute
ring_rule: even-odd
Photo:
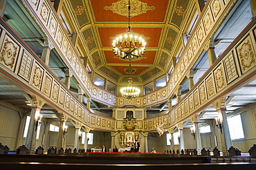
<svg viewBox="0 0 256 170"><path fill-rule="evenodd" d="M105 6L104 10L112 10L113 13L118 15L122 15L125 17L135 17L138 15L142 15L147 13L147 10L154 10L156 7L147 6L147 3L138 0L131 0L130 6L131 10L128 10L129 1L128 0L120 0L112 3L112 6Z"/></svg>

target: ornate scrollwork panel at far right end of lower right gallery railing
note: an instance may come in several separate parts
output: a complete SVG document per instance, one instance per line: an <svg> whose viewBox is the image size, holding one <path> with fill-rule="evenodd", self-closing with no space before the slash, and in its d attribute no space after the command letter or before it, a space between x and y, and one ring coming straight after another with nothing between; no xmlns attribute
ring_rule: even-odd
<svg viewBox="0 0 256 170"><path fill-rule="evenodd" d="M253 46L250 36L236 48L239 62L241 64L241 72L246 73L247 70L255 66L255 47Z"/></svg>

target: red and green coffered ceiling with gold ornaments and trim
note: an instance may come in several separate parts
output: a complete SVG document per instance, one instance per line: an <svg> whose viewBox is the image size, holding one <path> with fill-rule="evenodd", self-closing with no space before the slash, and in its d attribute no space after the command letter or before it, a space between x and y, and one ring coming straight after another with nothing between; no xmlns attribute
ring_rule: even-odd
<svg viewBox="0 0 256 170"><path fill-rule="evenodd" d="M135 82L144 84L155 74L164 75L170 70L192 9L196 8L189 0L131 0L132 30L144 37L147 49L143 57L131 61L131 68L136 71L129 75L125 72L129 61L117 58L112 52L113 38L127 31L128 4L128 0L69 0L64 8L81 32L78 41L86 42L98 75L116 83L127 82L127 76L134 76Z"/></svg>

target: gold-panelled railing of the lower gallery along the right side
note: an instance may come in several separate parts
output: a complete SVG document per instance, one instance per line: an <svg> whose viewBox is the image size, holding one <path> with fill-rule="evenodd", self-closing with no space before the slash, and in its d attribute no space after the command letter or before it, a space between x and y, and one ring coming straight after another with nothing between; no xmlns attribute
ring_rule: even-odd
<svg viewBox="0 0 256 170"><path fill-rule="evenodd" d="M256 18L228 46L194 87L168 113L166 127L175 126L200 113L219 97L256 78ZM163 116L160 116L163 117ZM145 120L154 129L158 117ZM151 125L152 124L152 125Z"/></svg>

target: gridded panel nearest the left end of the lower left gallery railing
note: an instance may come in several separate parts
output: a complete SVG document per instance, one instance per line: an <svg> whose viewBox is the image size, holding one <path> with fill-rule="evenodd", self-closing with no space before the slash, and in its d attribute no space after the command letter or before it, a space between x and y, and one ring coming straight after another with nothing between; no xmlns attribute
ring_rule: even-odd
<svg viewBox="0 0 256 170"><path fill-rule="evenodd" d="M28 81L30 77L33 61L33 57L29 53L24 52L24 55L21 60L21 65L19 67L18 75L26 79L26 81Z"/></svg>

